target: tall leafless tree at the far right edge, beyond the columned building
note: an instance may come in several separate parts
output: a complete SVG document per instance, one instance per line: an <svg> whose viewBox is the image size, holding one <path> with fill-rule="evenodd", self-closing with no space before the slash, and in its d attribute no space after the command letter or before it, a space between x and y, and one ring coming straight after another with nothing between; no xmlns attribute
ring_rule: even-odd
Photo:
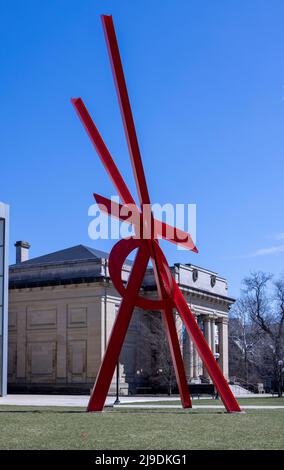
<svg viewBox="0 0 284 470"><path fill-rule="evenodd" d="M241 302L250 320L264 335L263 359L270 363L278 396L282 396L284 278L273 281L270 274L257 272L243 282Z"/></svg>

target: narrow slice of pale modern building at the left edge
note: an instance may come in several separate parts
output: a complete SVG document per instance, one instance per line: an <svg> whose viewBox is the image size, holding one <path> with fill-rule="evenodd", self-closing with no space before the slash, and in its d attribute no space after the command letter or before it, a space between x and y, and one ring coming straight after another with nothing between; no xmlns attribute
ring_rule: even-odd
<svg viewBox="0 0 284 470"><path fill-rule="evenodd" d="M0 202L0 396L7 393L9 207Z"/></svg>

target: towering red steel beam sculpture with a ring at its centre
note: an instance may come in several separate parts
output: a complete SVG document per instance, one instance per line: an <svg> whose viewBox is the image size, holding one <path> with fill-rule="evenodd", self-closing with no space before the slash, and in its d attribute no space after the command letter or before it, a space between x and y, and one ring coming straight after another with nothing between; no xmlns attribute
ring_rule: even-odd
<svg viewBox="0 0 284 470"><path fill-rule="evenodd" d="M108 46L108 53L115 80L116 91L123 119L128 149L131 157L131 164L138 191L141 211L136 206L127 185L125 184L112 156L103 142L98 129L93 123L82 99L76 98L72 99L71 101L121 200L124 204L130 204L132 208L134 207L134 212L136 212L136 215L139 213L139 217L141 218L142 215L144 215L144 208L149 207L150 205L150 198L112 17L102 15L101 18L104 27L106 43ZM111 211L113 202L97 194L94 196L102 210L108 212L110 215L114 215L113 211ZM125 219L125 217L121 215L121 206L118 204L116 205L115 215L119 218ZM128 221L131 222L131 220ZM179 312L186 330L195 344L198 354L206 366L207 371L211 376L227 411L241 411L234 395L231 392L230 387L228 386L227 381L222 374L220 367L215 361L214 356L195 321L191 310L189 309L178 285L171 275L169 265L159 246L157 238L167 238L171 242L182 244L183 246L186 246L188 249L195 252L197 252L197 248L195 247L190 235L185 234L181 230L166 226L166 224L162 222L154 221L151 213L148 214L148 217L143 218L142 222L139 222L139 224L141 223L146 226L147 224L151 223L151 227L154 226L154 230L150 229L150 238L129 238L120 240L113 247L110 253L110 276L114 286L121 294L122 300L91 394L87 411L101 411L104 407L115 367L119 360L119 354L123 346L133 310L136 306L142 307L144 309L160 310L162 312L183 407L191 408L192 404L186 381L179 339L176 331L173 308L177 309ZM172 233L170 238L166 236L166 233L168 233L167 229L169 228L171 229ZM128 254L135 248L138 248L137 254L133 263L132 271L129 275L127 285L125 287L121 280L121 269ZM160 300L145 299L139 296L141 284L150 258L153 264Z"/></svg>

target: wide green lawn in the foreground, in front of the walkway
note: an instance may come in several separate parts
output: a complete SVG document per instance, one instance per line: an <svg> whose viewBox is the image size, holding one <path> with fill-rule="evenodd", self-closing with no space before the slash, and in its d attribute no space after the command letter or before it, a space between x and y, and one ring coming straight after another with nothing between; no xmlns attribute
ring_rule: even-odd
<svg viewBox="0 0 284 470"><path fill-rule="evenodd" d="M0 407L0 449L284 449L283 431L282 410Z"/></svg>

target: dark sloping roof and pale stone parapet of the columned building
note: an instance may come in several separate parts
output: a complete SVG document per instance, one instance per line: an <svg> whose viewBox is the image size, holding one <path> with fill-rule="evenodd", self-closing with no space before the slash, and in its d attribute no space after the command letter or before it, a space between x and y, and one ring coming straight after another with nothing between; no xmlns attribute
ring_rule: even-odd
<svg viewBox="0 0 284 470"><path fill-rule="evenodd" d="M32 258L10 266L9 288L32 288L62 284L79 284L109 280L108 260L109 253L86 245L76 245L64 250L49 253L44 256ZM125 260L122 279L127 282L131 265ZM199 271L199 276L193 280L193 271ZM227 295L226 279L213 271L197 267L193 264L175 264L171 268L172 274L184 291L207 293L212 297L226 299L232 302ZM214 277L214 284L211 278ZM143 290L156 290L156 282L152 268L148 268L143 280Z"/></svg>

